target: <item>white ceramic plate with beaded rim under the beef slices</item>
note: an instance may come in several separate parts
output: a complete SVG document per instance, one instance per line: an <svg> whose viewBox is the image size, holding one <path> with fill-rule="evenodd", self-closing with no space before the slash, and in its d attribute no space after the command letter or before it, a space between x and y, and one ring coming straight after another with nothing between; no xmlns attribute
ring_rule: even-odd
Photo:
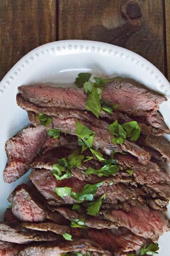
<svg viewBox="0 0 170 256"><path fill-rule="evenodd" d="M135 79L159 91L170 99L170 83L153 64L143 57L119 46L84 41L52 42L35 48L15 64L0 82L0 217L9 205L7 198L17 184L27 182L29 172L15 183L3 182L2 172L7 157L5 141L27 126L26 111L16 103L17 87L35 82L53 82L57 86L73 84L80 72L113 77L120 75ZM170 101L161 104L161 113L170 127ZM170 210L169 210L170 211ZM160 240L160 256L170 254L170 232Z"/></svg>

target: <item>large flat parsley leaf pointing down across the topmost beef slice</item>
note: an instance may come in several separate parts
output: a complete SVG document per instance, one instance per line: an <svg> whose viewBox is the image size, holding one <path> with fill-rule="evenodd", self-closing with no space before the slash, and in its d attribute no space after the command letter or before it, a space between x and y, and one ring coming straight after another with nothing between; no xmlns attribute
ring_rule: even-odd
<svg viewBox="0 0 170 256"><path fill-rule="evenodd" d="M97 118L99 118L101 113L101 94L102 91L99 94L99 91L93 87L85 103L86 109L90 110Z"/></svg>

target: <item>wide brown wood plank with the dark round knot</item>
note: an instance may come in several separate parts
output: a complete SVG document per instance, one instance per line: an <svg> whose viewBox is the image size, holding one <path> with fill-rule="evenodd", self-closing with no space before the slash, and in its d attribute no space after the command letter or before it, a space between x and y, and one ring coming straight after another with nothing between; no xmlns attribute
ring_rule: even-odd
<svg viewBox="0 0 170 256"><path fill-rule="evenodd" d="M164 73L162 0L59 0L59 39L122 46Z"/></svg>

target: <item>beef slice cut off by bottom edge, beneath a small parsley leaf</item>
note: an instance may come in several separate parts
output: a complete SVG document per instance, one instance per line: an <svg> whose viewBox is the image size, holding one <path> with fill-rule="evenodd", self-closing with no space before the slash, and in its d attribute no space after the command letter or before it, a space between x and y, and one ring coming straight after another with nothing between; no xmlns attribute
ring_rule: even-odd
<svg viewBox="0 0 170 256"><path fill-rule="evenodd" d="M54 245L49 244L48 246L34 245L34 246L26 247L24 250L20 251L18 256L30 256L30 255L60 256L68 252L80 252L82 253L82 255L85 256L87 251L94 256L111 256L111 253L109 251L103 250L101 246L87 239L67 241L64 243L60 243L58 245L55 245L55 244Z"/></svg>

